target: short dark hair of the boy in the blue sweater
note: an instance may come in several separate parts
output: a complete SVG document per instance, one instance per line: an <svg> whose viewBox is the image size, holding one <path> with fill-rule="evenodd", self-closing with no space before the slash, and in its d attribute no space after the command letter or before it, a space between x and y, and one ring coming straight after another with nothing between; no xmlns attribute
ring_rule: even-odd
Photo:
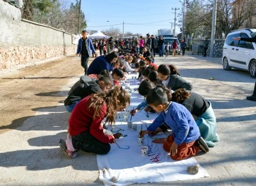
<svg viewBox="0 0 256 186"><path fill-rule="evenodd" d="M147 104L153 104L154 106L168 103L166 92L161 86L156 86L154 89L150 90L146 100Z"/></svg>

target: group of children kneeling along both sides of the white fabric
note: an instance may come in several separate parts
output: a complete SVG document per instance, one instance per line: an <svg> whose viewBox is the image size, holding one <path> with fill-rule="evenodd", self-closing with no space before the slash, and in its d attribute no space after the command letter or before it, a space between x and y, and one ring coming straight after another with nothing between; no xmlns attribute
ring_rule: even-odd
<svg viewBox="0 0 256 186"><path fill-rule="evenodd" d="M81 76L68 92L65 99L65 107L71 112L68 135L67 140L60 140L60 147L68 158L76 157L77 150L107 154L109 143L120 138L119 133L111 134L104 129L103 121L115 124L116 111L124 111L129 105L129 94L118 81L125 78L125 72L131 71L139 73L138 92L146 98L131 115L143 108L159 113L147 130L141 132L141 137L171 129L168 138L153 142L163 143L164 150L175 160L195 156L200 150L208 152L208 146L214 147L219 138L211 103L191 92L191 83L179 75L175 66L157 66L150 56L120 54L118 58L113 70Z"/></svg>

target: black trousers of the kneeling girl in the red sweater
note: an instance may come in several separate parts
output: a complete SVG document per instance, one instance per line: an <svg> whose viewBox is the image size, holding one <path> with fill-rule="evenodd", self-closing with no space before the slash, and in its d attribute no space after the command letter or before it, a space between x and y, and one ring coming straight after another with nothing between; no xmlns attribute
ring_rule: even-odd
<svg viewBox="0 0 256 186"><path fill-rule="evenodd" d="M109 143L102 143L90 134L89 131L82 132L77 136L72 136L72 144L77 150L92 152L94 154L108 154Z"/></svg>

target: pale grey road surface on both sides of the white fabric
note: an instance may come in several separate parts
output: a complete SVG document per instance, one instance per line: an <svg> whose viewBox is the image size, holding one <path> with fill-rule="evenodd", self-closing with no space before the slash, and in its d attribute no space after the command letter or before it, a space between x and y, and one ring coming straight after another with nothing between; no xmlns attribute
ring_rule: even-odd
<svg viewBox="0 0 256 186"><path fill-rule="evenodd" d="M134 185L256 185L256 102L246 100L255 79L245 71L224 71L219 58L187 54L156 57L156 64L177 66L193 84L193 92L212 103L220 141L207 154L195 157L211 177ZM0 134L1 185L103 185L96 155L79 152L70 160L58 147L58 140L66 137L69 117L63 100L79 75L47 95L61 97L57 106L38 108L19 127Z"/></svg>

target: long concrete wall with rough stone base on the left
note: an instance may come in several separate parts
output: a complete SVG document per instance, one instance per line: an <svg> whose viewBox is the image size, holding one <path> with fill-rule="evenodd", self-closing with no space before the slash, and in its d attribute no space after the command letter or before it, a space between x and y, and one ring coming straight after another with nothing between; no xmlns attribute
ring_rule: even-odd
<svg viewBox="0 0 256 186"><path fill-rule="evenodd" d="M19 8L0 0L0 70L75 52L72 34L22 20Z"/></svg>

